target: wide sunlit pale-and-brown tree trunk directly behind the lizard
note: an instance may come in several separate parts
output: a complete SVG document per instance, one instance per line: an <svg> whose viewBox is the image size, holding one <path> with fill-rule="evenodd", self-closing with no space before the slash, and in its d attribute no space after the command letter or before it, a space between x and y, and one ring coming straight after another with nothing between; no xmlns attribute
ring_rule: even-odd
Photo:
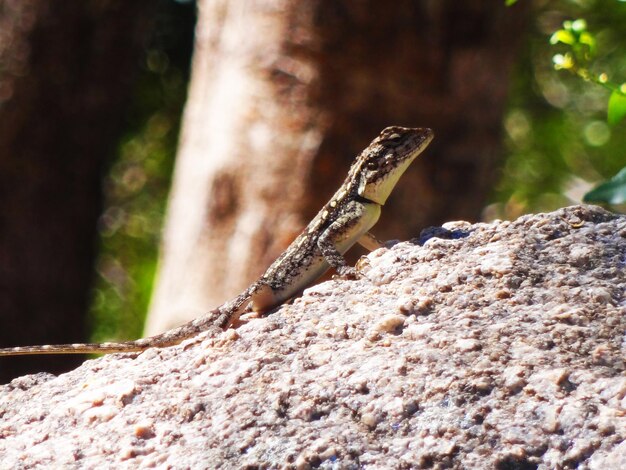
<svg viewBox="0 0 626 470"><path fill-rule="evenodd" d="M380 238L478 218L525 26L524 7L503 3L201 0L147 333L245 288L388 125L436 139L390 198Z"/></svg>

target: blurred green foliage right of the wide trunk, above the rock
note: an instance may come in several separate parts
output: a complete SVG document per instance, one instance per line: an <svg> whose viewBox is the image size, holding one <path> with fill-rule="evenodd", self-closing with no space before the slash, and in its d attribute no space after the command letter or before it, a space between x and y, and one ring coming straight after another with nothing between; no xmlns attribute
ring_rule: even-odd
<svg viewBox="0 0 626 470"><path fill-rule="evenodd" d="M587 181L624 166L626 3L540 5L505 117L509 156L492 216L579 202L591 187Z"/></svg>

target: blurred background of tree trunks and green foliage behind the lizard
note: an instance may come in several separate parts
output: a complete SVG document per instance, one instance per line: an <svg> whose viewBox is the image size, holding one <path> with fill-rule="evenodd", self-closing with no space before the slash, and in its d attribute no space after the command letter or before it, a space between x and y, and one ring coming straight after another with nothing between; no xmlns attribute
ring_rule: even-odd
<svg viewBox="0 0 626 470"><path fill-rule="evenodd" d="M626 2L389 5L0 0L0 345L134 339L228 300L388 125L436 139L382 239L580 203L626 165Z"/></svg>

